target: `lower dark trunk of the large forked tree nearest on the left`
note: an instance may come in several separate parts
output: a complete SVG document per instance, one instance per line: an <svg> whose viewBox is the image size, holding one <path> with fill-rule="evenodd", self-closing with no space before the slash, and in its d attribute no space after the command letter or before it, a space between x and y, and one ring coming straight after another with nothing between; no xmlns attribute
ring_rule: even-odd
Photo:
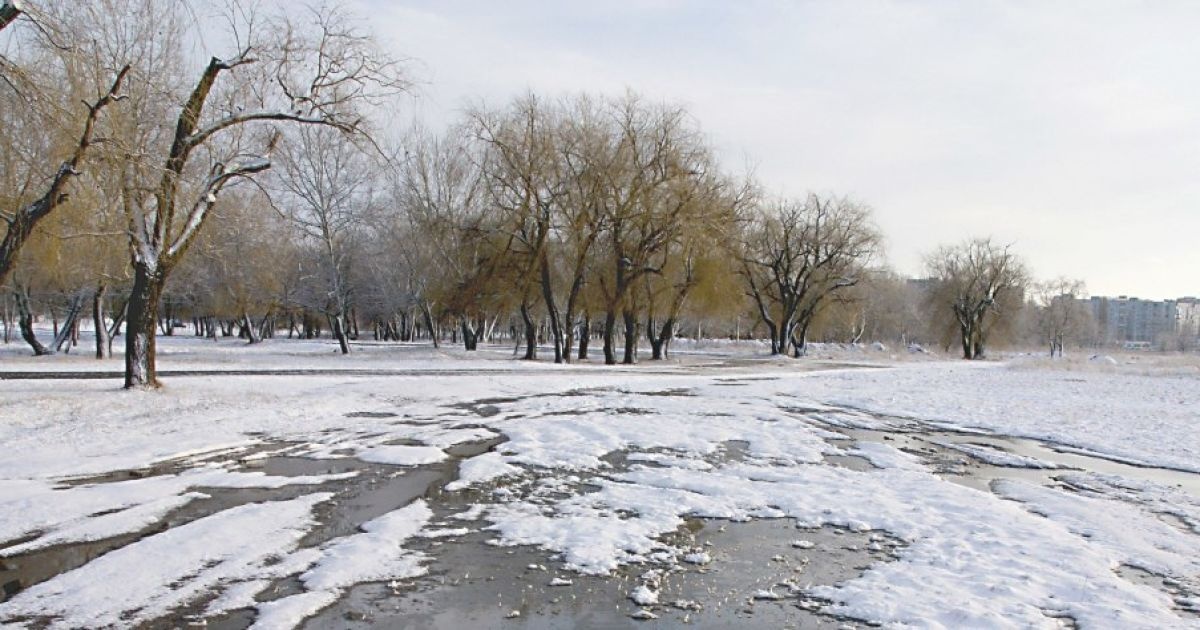
<svg viewBox="0 0 1200 630"><path fill-rule="evenodd" d="M157 388L155 335L158 324L158 299L167 275L145 263L133 265L133 288L126 305L125 388Z"/></svg>

